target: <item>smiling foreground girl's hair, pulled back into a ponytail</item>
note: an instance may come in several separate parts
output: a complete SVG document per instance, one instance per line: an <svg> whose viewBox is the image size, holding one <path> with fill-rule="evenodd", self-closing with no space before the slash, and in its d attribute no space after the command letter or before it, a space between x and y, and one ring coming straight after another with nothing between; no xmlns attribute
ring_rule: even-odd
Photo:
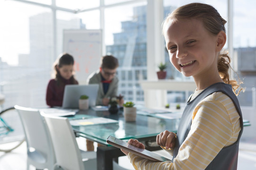
<svg viewBox="0 0 256 170"><path fill-rule="evenodd" d="M220 31L224 31L226 33L225 24L227 21L223 19L219 12L212 6L203 4L203 3L190 3L175 9L171 14L169 14L163 24L163 34L166 24L170 21L176 22L178 19L181 18L197 18L203 22L203 26L214 35L219 34ZM241 90L244 90L240 84L243 82L239 79L236 80L229 80L229 68L230 66L230 57L228 52L224 51L223 53L219 54L218 57L218 71L219 76L222 78L224 83L232 85L232 89L236 95L240 93Z"/></svg>

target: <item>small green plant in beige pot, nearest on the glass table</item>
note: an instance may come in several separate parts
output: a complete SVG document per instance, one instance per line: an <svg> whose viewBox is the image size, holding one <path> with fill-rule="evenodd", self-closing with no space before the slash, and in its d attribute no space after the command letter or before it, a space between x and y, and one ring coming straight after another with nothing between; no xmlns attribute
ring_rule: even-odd
<svg viewBox="0 0 256 170"><path fill-rule="evenodd" d="M136 107L134 102L126 102L124 106L124 117L126 121L136 121Z"/></svg>

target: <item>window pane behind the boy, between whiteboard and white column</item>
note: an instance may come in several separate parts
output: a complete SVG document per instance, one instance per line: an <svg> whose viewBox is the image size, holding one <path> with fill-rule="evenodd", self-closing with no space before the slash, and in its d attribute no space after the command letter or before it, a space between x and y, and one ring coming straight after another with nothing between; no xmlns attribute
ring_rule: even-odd
<svg viewBox="0 0 256 170"><path fill-rule="evenodd" d="M106 0L105 4L108 3L110 1ZM138 66L138 71L146 67L146 62L140 62L141 59L146 60L146 3L106 8L105 43L107 53L115 54L115 57L119 59L119 71L122 74L119 82L127 79L136 83L138 79L135 80L132 73L134 66ZM141 44L143 44L143 49L140 48ZM143 53L140 52L142 50ZM132 85L128 85L125 90L132 91ZM124 100L128 98L124 96Z"/></svg>

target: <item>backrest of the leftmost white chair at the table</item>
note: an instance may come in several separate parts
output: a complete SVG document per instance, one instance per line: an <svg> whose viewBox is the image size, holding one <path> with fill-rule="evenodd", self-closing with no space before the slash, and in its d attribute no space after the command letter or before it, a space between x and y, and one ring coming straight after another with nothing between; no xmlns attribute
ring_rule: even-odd
<svg viewBox="0 0 256 170"><path fill-rule="evenodd" d="M51 136L39 110L14 106L21 119L27 141L27 170L33 165L36 169L54 170L55 153Z"/></svg>

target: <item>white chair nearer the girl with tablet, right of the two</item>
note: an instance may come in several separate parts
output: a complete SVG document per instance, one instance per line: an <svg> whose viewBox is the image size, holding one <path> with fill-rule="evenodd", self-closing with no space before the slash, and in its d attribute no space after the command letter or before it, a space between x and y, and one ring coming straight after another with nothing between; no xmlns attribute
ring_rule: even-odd
<svg viewBox="0 0 256 170"><path fill-rule="evenodd" d="M56 167L64 170L96 170L96 152L78 148L69 120L41 112L45 118L53 141Z"/></svg>

